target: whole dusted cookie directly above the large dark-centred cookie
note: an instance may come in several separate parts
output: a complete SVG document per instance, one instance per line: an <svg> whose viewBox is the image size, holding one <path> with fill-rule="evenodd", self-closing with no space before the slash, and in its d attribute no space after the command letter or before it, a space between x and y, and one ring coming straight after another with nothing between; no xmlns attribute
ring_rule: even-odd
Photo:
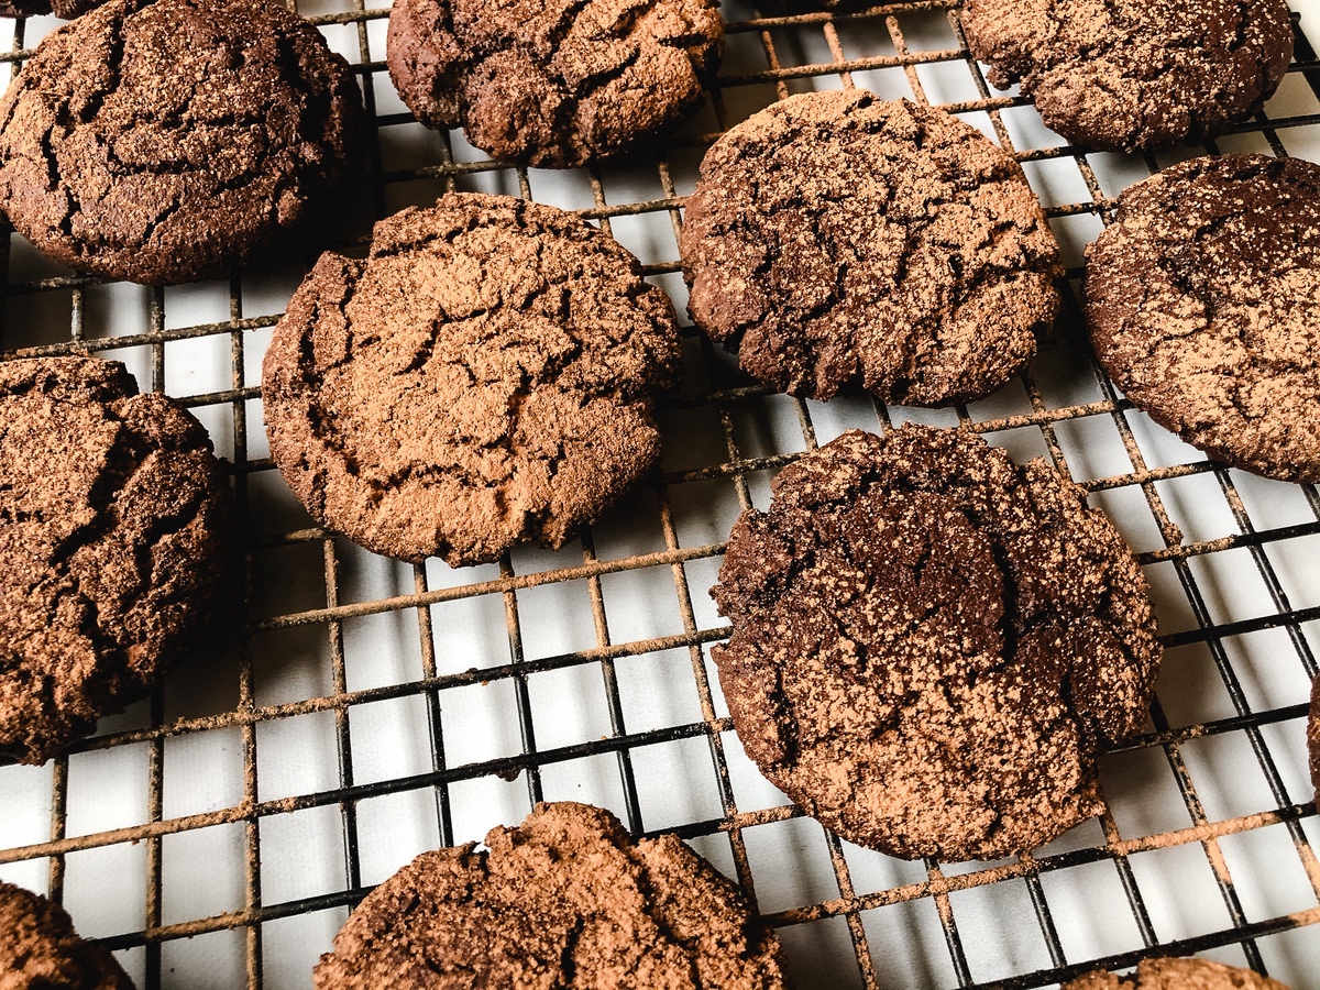
<svg viewBox="0 0 1320 990"><path fill-rule="evenodd" d="M1018 164L944 111L776 103L701 162L678 239L689 310L754 378L829 399L981 399L1059 309L1059 244Z"/></svg>

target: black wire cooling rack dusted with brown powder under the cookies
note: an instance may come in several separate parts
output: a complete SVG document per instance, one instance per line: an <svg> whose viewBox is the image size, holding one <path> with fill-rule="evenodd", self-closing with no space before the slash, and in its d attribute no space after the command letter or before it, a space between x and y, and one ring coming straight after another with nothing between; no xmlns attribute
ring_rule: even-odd
<svg viewBox="0 0 1320 990"><path fill-rule="evenodd" d="M392 100L384 70L388 9L352 0L318 8L304 3L300 12L355 63L367 110L378 123L371 181L362 190L359 213L381 216L404 202L426 202L451 189L537 197L544 173L487 161L457 132L425 137L421 161L399 153L392 132L416 124ZM1027 119L1020 115L1028 104L1015 91L995 94L986 86L968 54L956 4L797 16L726 9L726 16L729 58L706 108L665 149L627 164L623 186L632 195L607 201L607 189L614 189L610 166L577 173L585 197L576 203L578 213L626 244L623 228L631 218L659 220L676 238L682 193L690 189L701 153L751 110L804 88L865 84L886 96L944 106L981 124L1014 153L1038 190L1051 181L1041 180L1032 164L1069 169L1073 189L1084 194L1053 202L1045 197L1047 215L1056 228L1071 218L1089 218L1092 232L1085 239L1114 205L1117 187L1106 194L1102 181L1106 169L1131 181L1158 168L1150 156L1115 164L1113 156L1060 147L1039 125L1032 131L1015 123ZM42 20L15 22L12 51L0 58L22 62L30 25L49 28ZM931 48L913 44L915 37L946 37L952 45ZM935 70L950 66L966 74L974 96L950 100L932 92ZM1292 94L1290 112L1275 110L1276 98L1266 114L1222 139L1225 148L1250 140L1282 154L1284 136L1313 136L1308 128L1320 125L1320 63L1300 33L1290 77L1280 90ZM647 177L639 180L643 173ZM655 191L644 195L638 187ZM367 228L345 209L339 240L360 247ZM345 230L351 234L345 236ZM1320 536L1320 492L1315 486L1280 486L1228 470L1150 428L1078 343L1076 264L1061 286L1061 339L1022 376L1020 387L1006 389L1011 397L940 413L886 408L857 395L828 407L774 395L750 383L689 327L685 391L663 408L667 454L660 477L558 554L515 552L498 566L450 572L434 561L405 566L370 558L309 525L296 510L280 508L288 496L281 495L261 447L255 368L282 302L263 305L263 292L273 290L253 290L251 272L235 273L227 286L211 286L219 294L207 298L220 300L211 305L227 306L218 318L180 322L166 310L191 314L193 290L107 286L51 272L33 261L30 249L24 253L21 239L9 236L8 228L5 234L0 240L9 275L4 356L104 354L128 360L144 388L181 399L203 417L232 465L246 535L243 615L232 643L182 664L148 702L103 721L99 735L69 755L36 771L0 768L0 793L18 809L12 826L9 812L0 812L0 846L8 846L0 850L0 870L28 879L28 886L41 887L44 879L57 902L67 904L66 895L77 894L84 912L75 911L75 921L117 950L140 985L223 986L243 979L249 987L306 985L310 961L329 949L347 909L413 853L479 838L484 826L521 817L510 808L525 812L543 797L577 796L586 785L603 795L601 803L634 832L675 832L734 875L779 928L801 987L1044 986L1097 966L1130 966L1154 949L1208 953L1262 972L1282 966L1296 986L1320 986L1317 978L1305 979L1320 970L1320 928L1308 928L1320 923L1320 863L1312 845L1320 834L1302 743L1305 686L1317 673L1312 642L1320 630L1320 574L1313 550L1308 554L1316 544L1308 537ZM681 309L673 244L667 242L668 255L665 248L659 255L651 251L651 257L639 253L647 275L669 289ZM312 260L289 260L293 284ZM166 355L185 343L209 347L206 354L227 381L203 388L186 368L178 378L166 375ZM169 367L173 372L191 360L172 356ZM1060 372L1061 379L1053 378ZM1064 379L1068 384L1060 387ZM708 660L709 645L729 634L705 591L725 549L730 513L754 503L764 507L768 477L829 436L847 426L887 429L908 418L968 424L1015 454L1047 454L1138 545L1163 628L1172 630L1163 635L1166 675L1148 731L1106 760L1102 780L1110 810L1093 828L1080 826L1043 850L997 863L904 865L841 842L803 818L747 772ZM1100 434L1104 440L1096 438ZM722 494L711 496L717 488ZM1288 508L1278 510L1280 500ZM1206 503L1220 512L1218 531L1204 523ZM640 581L628 585L632 577ZM1247 593L1249 586L1254 591ZM572 626L574 616L556 611L562 598L550 598L549 607L533 601L544 591L578 594L583 587L589 620L583 614L579 627L568 632L564 626ZM671 631L645 635L656 630L636 616L652 610L657 589L672 595L675 622ZM1262 607L1243 615L1236 605L1253 595ZM503 642L484 636L483 652L469 635L455 651L449 634L451 626L462 626L463 615L469 632L484 630ZM381 622L395 634L391 648L404 639L411 643L407 663L380 660L380 649L371 645L379 642L378 632L363 630L379 630ZM565 642L570 648L557 648ZM368 657L363 669L378 663L395 676L375 672L363 680L359 655ZM660 688L649 693L628 686L642 661L665 672ZM209 673L202 672L203 663L210 664ZM408 673L399 675L408 664ZM317 671L308 673L309 667ZM268 677L275 688L264 685ZM545 717L539 685L556 677L566 678L570 694L599 692L595 737L564 737ZM668 706L680 681L694 708L669 718L647 711L647 705ZM506 722L503 729L487 729L508 737L503 750L473 743L483 731L482 719L498 708L480 701L491 690L500 692ZM1208 694L1214 697L1206 701ZM400 762L393 762L400 754L387 752L381 760L379 747L372 747L374 731L392 738L383 729L392 715L371 719L364 713L401 710L391 708L396 704L412 706L424 726L420 763L416 752ZM301 748L279 743L279 730L313 722L322 729ZM213 738L224 742L206 747L201 759L173 759L178 747ZM259 750L259 743L267 748ZM1246 770L1259 775L1250 784L1241 776L1243 763L1225 758L1243 793L1225 791L1225 771L1205 750L1217 744L1249 751ZM684 763L686 756L673 755L690 754L693 746L708 768L693 770ZM272 747L277 756L263 758ZM293 754L296 763L309 751L329 762L329 772L285 781L297 774L286 772L284 758ZM124 754L137 783L119 783L124 779L119 770L102 779L103 767L117 766L102 760ZM223 767L214 764L216 759ZM186 770L166 772L172 763ZM228 789L207 789L205 777L222 770L231 772ZM186 780L178 780L197 771L203 780L201 807L181 810L187 801L172 793L186 791ZM697 783L698 776L705 783ZM1172 808L1152 797L1158 787L1152 781L1170 777ZM657 779L668 788L664 800L656 799ZM114 804L116 787L128 789L128 804L141 813L116 821L112 814L98 818L95 810L79 810L83 804ZM675 797L689 787L713 788L713 795L706 804L685 801L681 793ZM387 803L396 799L408 799L407 813L387 816L384 832L408 837L381 857L374 838L381 833L381 816L371 809L375 803L393 808ZM40 837L24 825L36 808L48 829ZM329 818L318 818L319 826L294 830L292 845L282 834L285 822L325 814ZM795 832L788 840L763 838L789 828ZM218 843L201 842L216 834L223 837ZM300 849L315 845L308 834L319 834L322 845L337 850L330 882L310 892L298 887L305 866ZM1262 870L1250 855L1243 859L1238 843L1265 836L1272 837L1276 855ZM198 845L178 846L183 850L178 855L170 845L193 841ZM777 855L764 853L776 849ZM86 870L91 882L78 884L79 894L70 884L70 865L95 853L119 858L99 873ZM1179 924L1167 902L1196 892L1180 890L1181 882L1171 879L1176 871L1166 875L1146 866L1151 857L1187 861L1189 853L1195 869L1212 878L1209 887L1197 890L1209 890L1210 900L1222 904L1216 907L1217 921ZM824 857L824 873L817 870L816 879L795 888L795 863L803 866L810 857ZM132 861L127 870L125 859ZM1111 916L1088 909L1085 900L1098 895L1090 879L1074 879L1092 878L1092 867L1105 866L1113 871L1107 882L1117 878L1122 891ZM1292 879L1284 882L1288 870ZM801 873L812 873L810 866ZM180 895L178 880L166 874L185 875L189 891ZM1282 902L1262 892L1261 875L1265 887L1287 888ZM1246 888L1243 876L1250 878ZM199 890L207 880L228 896L222 909ZM140 903L129 896L135 903L127 915L92 909L94 902L115 900L107 892L123 896L137 883ZM989 911L998 920L989 935L969 939L969 927L986 928L986 908L973 907L973 895L991 895ZM999 916L1003 904L1023 898L1028 909ZM125 916L140 921L125 923ZM1126 936L1078 941L1078 923L1085 928L1097 916ZM883 920L892 917L900 923ZM309 925L296 924L309 919ZM281 924L293 925L293 935L277 937ZM1011 924L1019 927L1010 931ZM1303 939L1290 940L1291 932ZM187 940L199 945L207 939L213 948L199 956L206 962L194 960L189 969L181 949L191 944ZM999 954L987 961L981 942L998 946ZM1032 948L1024 949L1027 942ZM300 969L302 961L306 966Z"/></svg>

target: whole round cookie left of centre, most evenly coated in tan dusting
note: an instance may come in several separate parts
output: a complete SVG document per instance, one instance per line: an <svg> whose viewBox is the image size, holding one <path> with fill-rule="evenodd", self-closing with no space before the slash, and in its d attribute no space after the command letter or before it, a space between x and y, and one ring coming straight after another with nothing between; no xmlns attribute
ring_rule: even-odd
<svg viewBox="0 0 1320 990"><path fill-rule="evenodd" d="M322 255L263 368L271 454L317 520L453 565L558 548L660 454L665 294L573 214L450 194Z"/></svg>

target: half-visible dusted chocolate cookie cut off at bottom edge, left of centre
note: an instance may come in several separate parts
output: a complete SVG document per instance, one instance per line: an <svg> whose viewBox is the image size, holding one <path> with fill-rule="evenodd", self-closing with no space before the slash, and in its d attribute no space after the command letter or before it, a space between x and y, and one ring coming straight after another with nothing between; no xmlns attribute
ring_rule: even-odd
<svg viewBox="0 0 1320 990"><path fill-rule="evenodd" d="M317 990L784 986L775 936L673 836L634 842L607 810L539 804L492 829L488 853L475 845L422 853L376 887Z"/></svg>

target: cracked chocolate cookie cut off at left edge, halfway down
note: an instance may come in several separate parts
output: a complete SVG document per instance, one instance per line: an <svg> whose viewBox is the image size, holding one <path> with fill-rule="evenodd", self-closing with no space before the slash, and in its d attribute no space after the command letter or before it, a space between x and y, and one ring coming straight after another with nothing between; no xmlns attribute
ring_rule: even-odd
<svg viewBox="0 0 1320 990"><path fill-rule="evenodd" d="M0 754L41 763L147 694L209 616L228 491L123 364L0 363Z"/></svg>

